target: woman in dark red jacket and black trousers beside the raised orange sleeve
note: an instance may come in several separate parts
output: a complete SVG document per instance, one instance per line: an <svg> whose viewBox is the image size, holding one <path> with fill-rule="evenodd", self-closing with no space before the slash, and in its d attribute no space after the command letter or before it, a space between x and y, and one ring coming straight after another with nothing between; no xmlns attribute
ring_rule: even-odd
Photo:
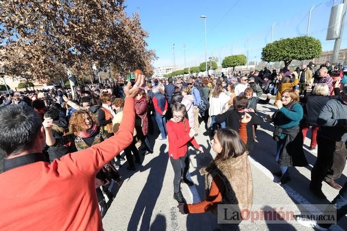
<svg viewBox="0 0 347 231"><path fill-rule="evenodd" d="M137 137L145 145L146 152L143 155L153 153L153 148L147 137L148 134L148 103L146 99L146 92L140 90L135 98L135 128Z"/></svg>

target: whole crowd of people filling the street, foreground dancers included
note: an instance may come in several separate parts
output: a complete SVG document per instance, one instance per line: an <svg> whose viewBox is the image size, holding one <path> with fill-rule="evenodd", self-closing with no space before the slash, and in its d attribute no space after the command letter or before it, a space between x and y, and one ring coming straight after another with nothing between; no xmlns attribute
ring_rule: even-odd
<svg viewBox="0 0 347 231"><path fill-rule="evenodd" d="M9 131L0 134L1 155L6 157L0 174L0 184L6 190L0 195L12 201L16 194L13 185L21 185L19 179L34 182L42 177L36 184L21 188L25 196L1 207L0 215L7 217L0 222L1 227L13 228L17 213L31 219L21 223L23 230L37 226L52 220L54 209L65 213L57 215L61 221L56 225L61 229L102 228L101 218L108 209L105 195L113 200L112 182L122 184L117 169L126 159L127 170L135 171L135 164L141 165L140 154L153 153L149 135L155 127L160 131L155 142L169 144L173 198L181 213L216 214L219 203L251 208L253 184L247 157L256 151L257 126L264 120L274 124L274 162L280 171L273 174L279 176L278 183L291 180L289 167L308 165L303 141L311 128L309 149L318 149L310 190L325 199L325 181L340 190L332 202L343 205L338 207L338 214L347 212L347 183L342 187L335 182L347 158L347 73L338 66L327 62L318 70L309 63L292 72L287 68L271 72L265 67L249 74L147 80L136 77L136 82L118 79L110 84L14 92L0 97L0 129ZM272 116L260 116L257 104L269 104L272 98L278 110ZM188 144L200 152L210 151L203 150L194 138L199 135L200 124L205 124L204 135L210 136L217 156L201 170L205 174L206 199L187 204L180 183L194 184L186 177ZM52 182L57 191L49 194L46 186ZM35 211L44 206L35 200L37 195L47 197L46 203L56 206L45 211L44 219L36 216ZM73 209L62 212L64 206Z"/></svg>

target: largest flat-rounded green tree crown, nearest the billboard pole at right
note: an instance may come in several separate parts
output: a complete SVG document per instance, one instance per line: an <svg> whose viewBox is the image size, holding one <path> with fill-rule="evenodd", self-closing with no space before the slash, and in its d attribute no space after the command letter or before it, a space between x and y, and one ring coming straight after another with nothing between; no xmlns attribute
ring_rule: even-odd
<svg viewBox="0 0 347 231"><path fill-rule="evenodd" d="M284 61L288 67L292 60L317 58L322 54L322 44L310 36L282 39L267 44L261 59L267 62Z"/></svg>

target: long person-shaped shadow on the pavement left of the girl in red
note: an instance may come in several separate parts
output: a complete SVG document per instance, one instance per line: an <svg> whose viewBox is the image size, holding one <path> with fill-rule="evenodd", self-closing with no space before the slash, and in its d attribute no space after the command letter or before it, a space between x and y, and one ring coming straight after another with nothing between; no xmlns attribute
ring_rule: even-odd
<svg viewBox="0 0 347 231"><path fill-rule="evenodd" d="M144 172L150 169L145 186L143 187L136 205L133 209L131 218L128 223L128 231L138 230L138 225L142 216L140 225L140 231L150 230L151 217L153 209L157 203L160 191L163 187L163 181L165 172L168 166L168 155L165 153L166 144L162 144L160 147L160 155L153 158L147 165L140 169L140 172ZM153 187L153 185L156 185ZM134 185L136 187L136 185ZM131 192L129 192L131 193ZM162 219L162 218L158 218ZM156 229L165 230L166 223L156 223ZM162 226L162 227L160 227Z"/></svg>

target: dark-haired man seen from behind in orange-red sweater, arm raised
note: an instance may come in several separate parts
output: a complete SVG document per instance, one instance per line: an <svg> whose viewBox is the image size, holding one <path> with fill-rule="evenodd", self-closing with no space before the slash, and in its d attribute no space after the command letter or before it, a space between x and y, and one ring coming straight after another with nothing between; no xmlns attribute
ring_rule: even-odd
<svg viewBox="0 0 347 231"><path fill-rule="evenodd" d="M106 141L67 154L51 164L42 149L53 123L30 107L0 108L0 148L6 153L0 174L1 230L103 230L95 191L96 173L132 142L134 97L144 76L124 88L124 117L119 131ZM54 143L53 143L54 144ZM48 145L52 145L49 144Z"/></svg>

